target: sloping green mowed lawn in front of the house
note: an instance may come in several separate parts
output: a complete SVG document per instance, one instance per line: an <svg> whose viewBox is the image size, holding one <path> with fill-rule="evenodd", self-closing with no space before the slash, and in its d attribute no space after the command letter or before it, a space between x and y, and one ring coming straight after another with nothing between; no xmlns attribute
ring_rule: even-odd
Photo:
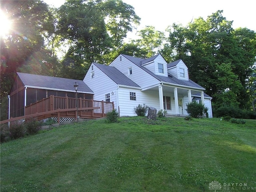
<svg viewBox="0 0 256 192"><path fill-rule="evenodd" d="M256 120L119 118L59 126L1 144L1 192L256 190ZM238 190L239 191L239 190ZM242 191L242 189L241 189Z"/></svg>

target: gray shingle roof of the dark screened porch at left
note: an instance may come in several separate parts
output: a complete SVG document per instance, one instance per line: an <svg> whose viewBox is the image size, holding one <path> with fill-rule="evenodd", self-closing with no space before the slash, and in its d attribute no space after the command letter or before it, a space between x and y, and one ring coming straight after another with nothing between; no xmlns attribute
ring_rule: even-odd
<svg viewBox="0 0 256 192"><path fill-rule="evenodd" d="M82 81L60 77L51 77L17 72L24 86L48 88L49 90L66 90L74 92L74 83L78 83L78 92L92 93L93 91Z"/></svg>

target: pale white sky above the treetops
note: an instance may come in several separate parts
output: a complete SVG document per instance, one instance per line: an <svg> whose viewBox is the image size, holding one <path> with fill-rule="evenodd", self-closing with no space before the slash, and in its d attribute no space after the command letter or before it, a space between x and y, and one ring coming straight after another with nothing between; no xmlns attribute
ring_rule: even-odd
<svg viewBox="0 0 256 192"><path fill-rule="evenodd" d="M65 0L44 0L54 7L61 6ZM256 32L256 15L254 0L123 0L134 7L135 13L141 18L137 30L145 26L154 26L155 30L165 32L173 23L186 26L195 18L212 15L218 10L223 10L222 16L233 21L232 27L246 27ZM134 32L128 34L133 38Z"/></svg>

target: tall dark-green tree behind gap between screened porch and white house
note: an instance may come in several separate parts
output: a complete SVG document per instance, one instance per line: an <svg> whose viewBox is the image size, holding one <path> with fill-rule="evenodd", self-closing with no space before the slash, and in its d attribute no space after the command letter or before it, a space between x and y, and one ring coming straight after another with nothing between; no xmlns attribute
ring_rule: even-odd
<svg viewBox="0 0 256 192"><path fill-rule="evenodd" d="M79 73L81 66L88 66L92 62L104 62L102 56L111 48L104 17L97 10L96 3L68 0L59 9L58 33L72 42L70 50L62 61L66 67L65 73L62 73L64 77L70 78L68 74L74 71ZM70 57L74 62L68 64ZM70 72L67 72L68 69ZM85 73L80 74L76 79L83 79L84 75Z"/></svg>

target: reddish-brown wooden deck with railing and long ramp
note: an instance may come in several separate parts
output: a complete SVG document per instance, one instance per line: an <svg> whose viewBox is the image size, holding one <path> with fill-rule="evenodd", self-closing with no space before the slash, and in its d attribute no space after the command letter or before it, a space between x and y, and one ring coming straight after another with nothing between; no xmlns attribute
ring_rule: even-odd
<svg viewBox="0 0 256 192"><path fill-rule="evenodd" d="M78 98L78 109L76 108L76 98L50 96L36 103L25 107L25 116L10 118L1 121L0 124L13 120L20 120L29 117L37 117L38 120L58 117L70 117L84 119L96 119L105 117L108 112L114 110L114 102L95 101ZM77 114L78 113L78 114Z"/></svg>

